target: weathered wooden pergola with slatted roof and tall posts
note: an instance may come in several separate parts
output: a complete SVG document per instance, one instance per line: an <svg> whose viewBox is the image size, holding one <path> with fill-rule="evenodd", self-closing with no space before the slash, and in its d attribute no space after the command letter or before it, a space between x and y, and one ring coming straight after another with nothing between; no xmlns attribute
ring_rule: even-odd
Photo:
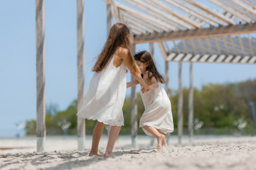
<svg viewBox="0 0 256 170"><path fill-rule="evenodd" d="M256 1L208 0L220 8L210 8L196 0L104 0L107 4L107 33L112 17L131 30L132 53L139 43L158 44L165 61L165 89L169 91L169 62L178 62L178 142L183 134L182 62L190 62L188 133L193 137L193 62L256 63ZM83 0L77 0L78 24L78 109L84 98L84 16ZM241 36L246 35L246 36ZM173 48L170 48L170 43ZM36 86L37 149L44 150L44 0L36 0ZM134 79L132 77L132 79ZM137 139L137 93L132 87L132 145ZM78 118L78 149L85 148L85 120Z"/></svg>

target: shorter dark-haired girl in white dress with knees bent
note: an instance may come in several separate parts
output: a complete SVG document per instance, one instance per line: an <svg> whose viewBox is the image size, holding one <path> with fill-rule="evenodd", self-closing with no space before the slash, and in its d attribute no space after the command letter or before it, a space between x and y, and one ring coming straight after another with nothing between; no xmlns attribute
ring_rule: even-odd
<svg viewBox="0 0 256 170"><path fill-rule="evenodd" d="M157 139L157 149L161 149L162 146L166 146L163 133L174 131L171 102L161 86L165 83L164 77L157 71L149 52L138 52L134 55L134 60L142 73L144 81L149 86L148 91L143 88L141 91L145 111L139 120L139 128L142 128L146 135L154 135ZM139 81L135 79L127 83L127 88L137 84L139 84Z"/></svg>

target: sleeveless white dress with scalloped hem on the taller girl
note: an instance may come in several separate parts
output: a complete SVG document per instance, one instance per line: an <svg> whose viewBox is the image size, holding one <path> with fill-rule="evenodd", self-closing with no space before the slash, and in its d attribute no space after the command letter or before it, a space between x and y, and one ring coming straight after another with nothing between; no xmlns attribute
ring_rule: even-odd
<svg viewBox="0 0 256 170"><path fill-rule="evenodd" d="M122 107L127 87L126 65L113 65L114 55L105 69L95 72L78 116L105 125L124 125Z"/></svg>

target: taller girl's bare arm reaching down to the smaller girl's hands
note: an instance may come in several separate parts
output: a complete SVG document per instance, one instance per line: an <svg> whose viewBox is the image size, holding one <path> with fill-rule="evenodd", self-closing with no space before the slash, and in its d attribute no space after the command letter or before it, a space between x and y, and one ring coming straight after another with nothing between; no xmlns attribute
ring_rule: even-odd
<svg viewBox="0 0 256 170"><path fill-rule="evenodd" d="M129 71L131 72L132 76L139 81L140 84L144 87L144 89L148 90L149 86L146 85L144 79L141 76L141 72L139 71L139 68L137 67L137 64L135 64L131 53L129 50L119 47L119 50L117 51L117 55L124 60L124 63L127 65Z"/></svg>

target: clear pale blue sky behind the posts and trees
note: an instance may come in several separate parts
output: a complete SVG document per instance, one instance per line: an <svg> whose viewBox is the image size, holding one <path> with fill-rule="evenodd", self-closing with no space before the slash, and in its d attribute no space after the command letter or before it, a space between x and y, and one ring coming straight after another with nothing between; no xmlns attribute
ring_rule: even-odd
<svg viewBox="0 0 256 170"><path fill-rule="evenodd" d="M85 93L93 58L107 39L107 6L85 1ZM36 4L31 0L0 1L0 137L14 137L16 123L36 119ZM46 105L65 110L77 98L76 1L45 1ZM149 50L149 44L136 46ZM164 60L154 45L156 66ZM182 64L183 87L189 85L189 64ZM169 63L169 85L178 89L178 63ZM127 74L127 81L131 78ZM256 79L256 64L193 64L193 84L227 84ZM139 88L137 88L139 89ZM127 90L127 96L131 93Z"/></svg>

